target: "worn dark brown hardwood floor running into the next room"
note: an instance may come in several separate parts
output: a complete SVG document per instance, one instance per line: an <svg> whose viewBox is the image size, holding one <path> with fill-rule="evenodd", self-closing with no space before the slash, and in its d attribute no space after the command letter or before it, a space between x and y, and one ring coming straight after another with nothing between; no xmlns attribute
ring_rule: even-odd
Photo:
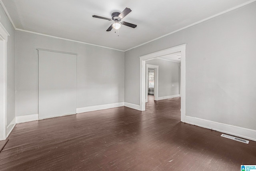
<svg viewBox="0 0 256 171"><path fill-rule="evenodd" d="M180 98L20 123L0 170L239 171L256 165L256 142L180 122Z"/></svg>

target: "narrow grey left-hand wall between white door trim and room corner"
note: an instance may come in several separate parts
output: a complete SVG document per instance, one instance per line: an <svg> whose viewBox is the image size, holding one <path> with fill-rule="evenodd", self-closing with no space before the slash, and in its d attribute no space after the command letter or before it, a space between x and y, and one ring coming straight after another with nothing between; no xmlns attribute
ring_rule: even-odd
<svg viewBox="0 0 256 171"><path fill-rule="evenodd" d="M10 20L0 5L0 22L10 34L7 42L7 126L15 117L15 33ZM9 126L12 127L11 125ZM9 131L9 130L7 130Z"/></svg>

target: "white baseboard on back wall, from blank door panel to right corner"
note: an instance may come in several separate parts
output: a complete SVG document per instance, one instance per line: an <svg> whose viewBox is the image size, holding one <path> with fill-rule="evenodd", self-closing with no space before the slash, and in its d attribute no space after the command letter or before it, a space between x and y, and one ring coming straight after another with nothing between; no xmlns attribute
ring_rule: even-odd
<svg viewBox="0 0 256 171"><path fill-rule="evenodd" d="M88 106L88 107L77 108L76 113L84 113L84 112L88 112L88 111L110 109L110 108L121 107L121 106L124 106L124 102L111 103L111 104L106 104L106 105Z"/></svg>

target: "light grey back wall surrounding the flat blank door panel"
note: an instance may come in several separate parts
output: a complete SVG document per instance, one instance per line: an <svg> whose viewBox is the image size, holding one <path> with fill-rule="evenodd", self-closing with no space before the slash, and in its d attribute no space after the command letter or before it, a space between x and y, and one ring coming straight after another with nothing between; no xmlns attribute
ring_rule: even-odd
<svg viewBox="0 0 256 171"><path fill-rule="evenodd" d="M37 48L77 54L77 108L124 102L124 52L16 31L16 116L38 114Z"/></svg>

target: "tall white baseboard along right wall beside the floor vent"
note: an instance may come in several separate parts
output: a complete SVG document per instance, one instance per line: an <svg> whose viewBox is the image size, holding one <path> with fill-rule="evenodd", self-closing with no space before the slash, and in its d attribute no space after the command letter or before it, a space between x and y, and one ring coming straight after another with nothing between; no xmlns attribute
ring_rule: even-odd
<svg viewBox="0 0 256 171"><path fill-rule="evenodd" d="M256 141L256 130L186 116L186 123Z"/></svg>

